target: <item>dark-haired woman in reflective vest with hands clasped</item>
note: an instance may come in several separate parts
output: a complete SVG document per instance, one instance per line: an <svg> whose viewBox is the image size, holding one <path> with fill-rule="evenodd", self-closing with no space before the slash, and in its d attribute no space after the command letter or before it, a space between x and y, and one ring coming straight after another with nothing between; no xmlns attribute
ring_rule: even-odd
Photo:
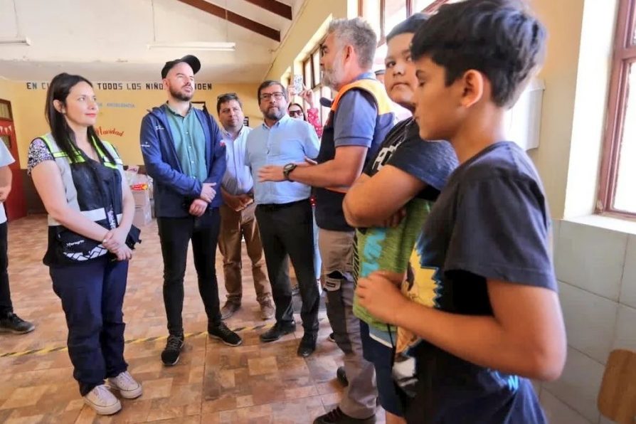
<svg viewBox="0 0 636 424"><path fill-rule="evenodd" d="M46 95L51 133L31 142L28 172L48 212L44 263L66 316L73 376L85 403L109 415L122 406L105 378L124 398L142 394L124 361L122 313L134 199L117 151L97 137L96 117L92 84L55 76Z"/></svg>

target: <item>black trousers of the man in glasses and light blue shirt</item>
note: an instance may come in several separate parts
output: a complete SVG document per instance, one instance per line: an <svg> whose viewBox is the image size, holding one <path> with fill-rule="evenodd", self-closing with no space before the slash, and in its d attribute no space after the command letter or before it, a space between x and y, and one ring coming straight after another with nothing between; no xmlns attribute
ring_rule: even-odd
<svg viewBox="0 0 636 424"><path fill-rule="evenodd" d="M319 293L314 272L313 215L309 199L283 205L258 205L256 221L276 305L276 322L290 324L294 319L289 255L302 299L302 327L308 334L318 332Z"/></svg>

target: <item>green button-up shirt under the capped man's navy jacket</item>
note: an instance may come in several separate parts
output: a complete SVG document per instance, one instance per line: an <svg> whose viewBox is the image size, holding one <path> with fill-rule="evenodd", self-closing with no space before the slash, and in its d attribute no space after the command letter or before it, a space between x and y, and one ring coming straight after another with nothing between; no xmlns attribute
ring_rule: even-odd
<svg viewBox="0 0 636 424"><path fill-rule="evenodd" d="M208 178L206 136L203 134L201 122L192 110L192 105L184 117L172 110L167 103L164 107L181 171L198 181L206 181Z"/></svg>

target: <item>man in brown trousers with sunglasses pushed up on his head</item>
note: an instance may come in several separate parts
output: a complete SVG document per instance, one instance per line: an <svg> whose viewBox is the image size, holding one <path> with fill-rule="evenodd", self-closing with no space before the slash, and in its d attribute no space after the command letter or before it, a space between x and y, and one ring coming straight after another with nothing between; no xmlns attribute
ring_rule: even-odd
<svg viewBox="0 0 636 424"><path fill-rule="evenodd" d="M228 300L221 308L221 319L231 317L240 308L243 295L241 284L241 238L252 262L252 276L256 300L260 304L263 319L274 317L272 290L265 275L265 258L260 242L254 212L254 181L250 169L245 166L245 143L252 129L243 125L243 103L234 92L220 95L216 99L218 120L223 127L223 142L226 144L226 174L221 182L221 233L218 248L223 255Z"/></svg>

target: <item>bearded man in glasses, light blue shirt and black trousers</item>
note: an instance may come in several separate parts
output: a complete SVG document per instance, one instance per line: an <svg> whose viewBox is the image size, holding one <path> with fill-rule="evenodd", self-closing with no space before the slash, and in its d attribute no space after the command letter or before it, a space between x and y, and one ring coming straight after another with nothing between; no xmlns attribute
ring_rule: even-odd
<svg viewBox="0 0 636 424"><path fill-rule="evenodd" d="M275 341L295 331L289 257L302 299L300 317L304 335L297 354L309 356L316 349L319 304L314 273L312 206L309 203L311 187L289 180L263 182L258 179L258 171L267 165L302 163L316 157L318 137L307 122L287 115L287 93L278 81L265 81L257 95L265 123L248 135L245 165L250 167L255 183L256 220L276 305L276 324L261 334L260 340Z"/></svg>

